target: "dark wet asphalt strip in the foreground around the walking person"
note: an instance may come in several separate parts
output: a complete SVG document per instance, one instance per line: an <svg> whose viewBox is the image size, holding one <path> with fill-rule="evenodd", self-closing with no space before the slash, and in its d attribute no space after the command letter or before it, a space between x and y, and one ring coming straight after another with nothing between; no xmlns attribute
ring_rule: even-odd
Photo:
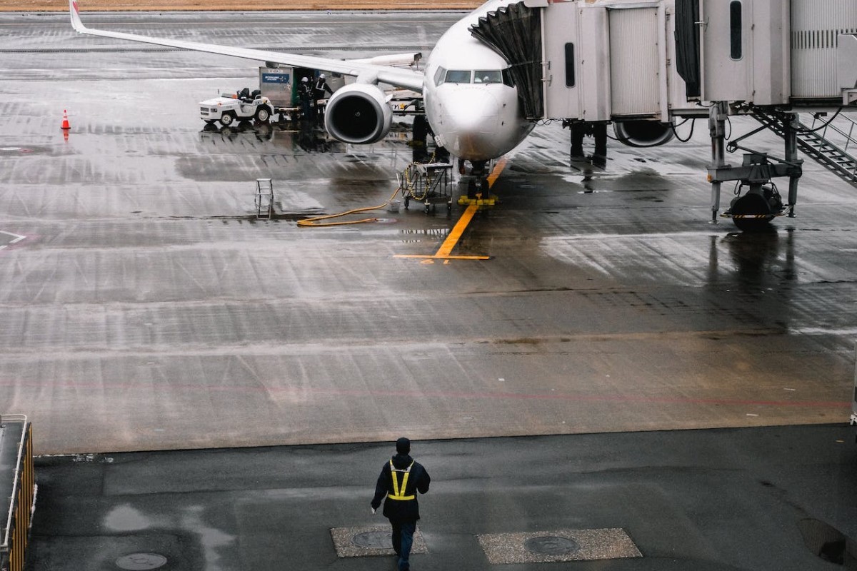
<svg viewBox="0 0 857 571"><path fill-rule="evenodd" d="M432 477L419 499L427 552L411 558L420 571L824 571L842 566L811 551L836 539L818 522L857 537L857 449L843 425L458 439L411 452ZM390 454L393 443L42 458L28 568L117 569L143 553L160 569L393 569L392 550L339 557L331 532L387 531L369 501ZM509 534L602 529L624 530L641 556L498 566L482 549L503 538L507 562L524 551ZM831 551L844 560L843 548Z"/></svg>

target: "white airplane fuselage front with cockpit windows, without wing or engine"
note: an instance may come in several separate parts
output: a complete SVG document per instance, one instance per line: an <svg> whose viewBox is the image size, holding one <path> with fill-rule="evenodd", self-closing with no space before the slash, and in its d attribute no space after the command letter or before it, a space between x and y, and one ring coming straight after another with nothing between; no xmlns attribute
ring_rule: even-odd
<svg viewBox="0 0 857 571"><path fill-rule="evenodd" d="M423 98L428 124L435 140L458 158L501 157L533 128L524 119L509 64L468 29L480 16L509 3L485 3L452 25L426 63Z"/></svg>

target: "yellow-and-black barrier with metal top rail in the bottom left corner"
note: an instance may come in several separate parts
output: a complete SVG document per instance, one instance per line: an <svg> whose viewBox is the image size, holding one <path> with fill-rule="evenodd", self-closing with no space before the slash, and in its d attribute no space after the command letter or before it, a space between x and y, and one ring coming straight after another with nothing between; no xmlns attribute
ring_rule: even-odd
<svg viewBox="0 0 857 571"><path fill-rule="evenodd" d="M11 490L9 511L3 521L0 570L22 571L36 491L33 426L23 414L3 414L0 415L0 427L0 438L5 441L3 444L7 444L0 446L0 449L8 451L8 454L0 455L0 477L5 480L0 485L3 489ZM15 439L18 440L17 446Z"/></svg>

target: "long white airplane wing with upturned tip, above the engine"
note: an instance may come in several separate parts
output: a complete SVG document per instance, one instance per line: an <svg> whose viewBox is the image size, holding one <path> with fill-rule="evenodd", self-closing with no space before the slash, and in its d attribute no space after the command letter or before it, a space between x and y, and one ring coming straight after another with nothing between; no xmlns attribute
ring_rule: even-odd
<svg viewBox="0 0 857 571"><path fill-rule="evenodd" d="M153 38L141 36L135 33L108 32L106 30L93 30L83 25L81 14L77 8L77 0L69 0L69 12L71 13L71 25L79 33L87 33L92 36L103 36L105 38L127 39L132 42L145 44L165 45L173 48L190 51L207 51L208 53L221 54L224 56L243 57L245 59L260 62L282 63L288 66L301 68L319 69L334 74L353 75L359 81L375 83L381 81L392 86L405 87L416 92L423 91L423 74L411 69L390 68L360 61L342 61L327 57L301 56L298 54L283 53L279 51L253 50L249 48L236 48L226 45L202 44L200 42L188 42L181 39Z"/></svg>

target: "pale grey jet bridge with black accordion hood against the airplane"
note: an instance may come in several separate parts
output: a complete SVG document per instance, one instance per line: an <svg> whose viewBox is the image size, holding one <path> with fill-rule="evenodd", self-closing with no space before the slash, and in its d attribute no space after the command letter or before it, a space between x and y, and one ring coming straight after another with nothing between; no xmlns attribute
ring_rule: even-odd
<svg viewBox="0 0 857 571"><path fill-rule="evenodd" d="M798 148L857 179L848 152L798 136L808 129L797 115L857 111L854 0L522 0L470 31L510 62L531 120L612 122L621 142L655 146L677 118L708 117L713 220L723 181L762 193L774 176L788 176L782 208L794 215ZM726 164L724 124L738 114L781 134L785 158Z"/></svg>

